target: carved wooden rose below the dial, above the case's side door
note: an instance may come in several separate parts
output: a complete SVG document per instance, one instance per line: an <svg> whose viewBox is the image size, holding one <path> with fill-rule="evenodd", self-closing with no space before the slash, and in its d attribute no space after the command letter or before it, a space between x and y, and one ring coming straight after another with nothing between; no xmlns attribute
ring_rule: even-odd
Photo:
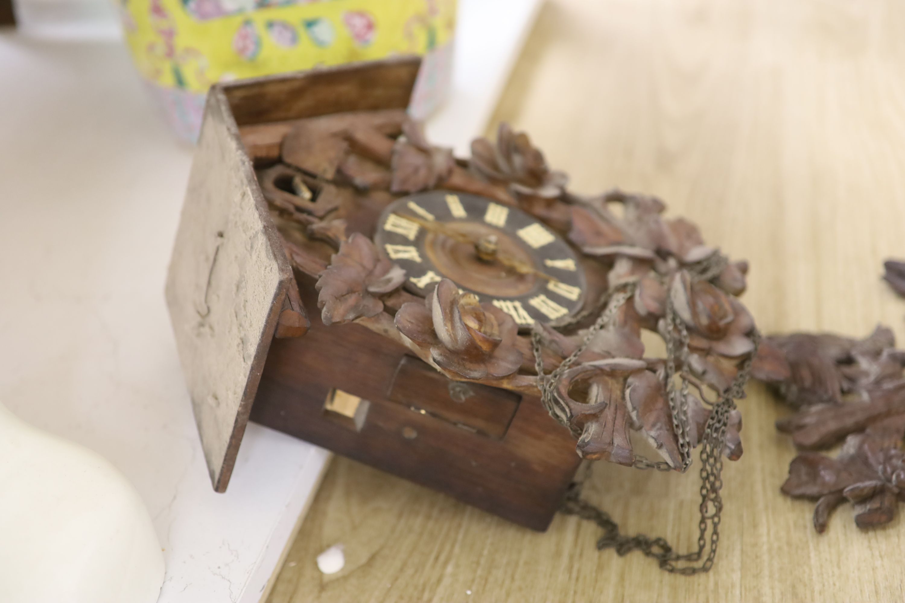
<svg viewBox="0 0 905 603"><path fill-rule="evenodd" d="M519 327L512 317L444 278L424 303L405 303L395 316L399 331L430 348L433 362L468 379L505 377L519 370Z"/></svg>

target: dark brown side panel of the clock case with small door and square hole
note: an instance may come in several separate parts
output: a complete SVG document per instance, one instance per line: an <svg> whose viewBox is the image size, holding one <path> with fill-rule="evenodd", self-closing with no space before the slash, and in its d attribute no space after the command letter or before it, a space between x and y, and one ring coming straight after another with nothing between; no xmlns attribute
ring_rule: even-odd
<svg viewBox="0 0 905 603"><path fill-rule="evenodd" d="M300 282L305 307L313 285ZM540 400L450 381L364 326L310 320L271 345L253 421L547 529L580 458ZM345 405L330 404L335 391Z"/></svg>

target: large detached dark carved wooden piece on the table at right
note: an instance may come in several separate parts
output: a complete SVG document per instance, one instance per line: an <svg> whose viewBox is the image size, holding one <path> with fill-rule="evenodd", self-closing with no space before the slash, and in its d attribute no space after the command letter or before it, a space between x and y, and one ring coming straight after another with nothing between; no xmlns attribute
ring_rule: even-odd
<svg viewBox="0 0 905 603"><path fill-rule="evenodd" d="M782 492L816 501L814 529L834 508L853 504L859 528L891 522L905 500L905 353L877 326L864 339L835 334L767 337L752 374L771 384L795 414L776 421L803 450ZM844 442L835 458L824 450Z"/></svg>

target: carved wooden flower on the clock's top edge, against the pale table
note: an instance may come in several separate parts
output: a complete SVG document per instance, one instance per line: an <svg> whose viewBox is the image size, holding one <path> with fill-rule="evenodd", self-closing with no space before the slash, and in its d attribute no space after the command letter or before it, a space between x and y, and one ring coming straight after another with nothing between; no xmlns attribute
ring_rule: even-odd
<svg viewBox="0 0 905 603"><path fill-rule="evenodd" d="M487 138L472 141L472 170L494 183L510 184L518 193L544 198L561 195L568 182L566 174L550 170L544 155L524 132L514 132L501 123L494 145Z"/></svg>

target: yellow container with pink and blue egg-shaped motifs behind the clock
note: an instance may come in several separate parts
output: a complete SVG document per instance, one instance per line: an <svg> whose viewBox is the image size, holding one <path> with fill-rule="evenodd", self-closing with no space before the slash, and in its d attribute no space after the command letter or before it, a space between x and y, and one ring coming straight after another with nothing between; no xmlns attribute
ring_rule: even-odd
<svg viewBox="0 0 905 603"><path fill-rule="evenodd" d="M420 54L415 117L445 96L456 0L124 0L138 71L180 137L195 140L217 81Z"/></svg>

